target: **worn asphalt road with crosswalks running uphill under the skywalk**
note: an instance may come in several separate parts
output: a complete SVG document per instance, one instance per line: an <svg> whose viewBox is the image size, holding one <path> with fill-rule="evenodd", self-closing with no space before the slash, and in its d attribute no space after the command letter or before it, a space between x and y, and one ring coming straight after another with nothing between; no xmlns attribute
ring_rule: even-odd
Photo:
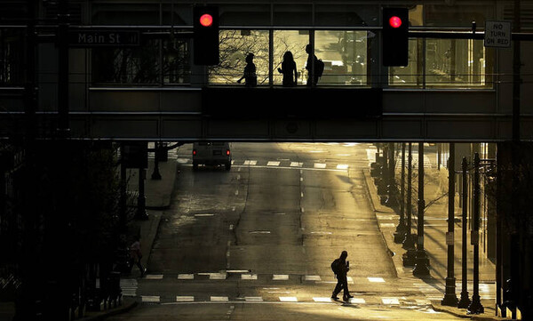
<svg viewBox="0 0 533 321"><path fill-rule="evenodd" d="M139 308L110 320L455 319L396 276L362 169L370 144L234 143L234 165L193 171L179 150L171 209L139 279ZM330 301L348 252L351 302Z"/></svg>

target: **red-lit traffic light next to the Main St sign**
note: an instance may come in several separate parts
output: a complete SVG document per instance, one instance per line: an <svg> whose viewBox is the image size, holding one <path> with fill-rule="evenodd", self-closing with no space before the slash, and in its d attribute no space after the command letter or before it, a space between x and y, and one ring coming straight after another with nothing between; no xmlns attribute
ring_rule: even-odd
<svg viewBox="0 0 533 321"><path fill-rule="evenodd" d="M195 65L219 64L219 8L195 6L193 55Z"/></svg>

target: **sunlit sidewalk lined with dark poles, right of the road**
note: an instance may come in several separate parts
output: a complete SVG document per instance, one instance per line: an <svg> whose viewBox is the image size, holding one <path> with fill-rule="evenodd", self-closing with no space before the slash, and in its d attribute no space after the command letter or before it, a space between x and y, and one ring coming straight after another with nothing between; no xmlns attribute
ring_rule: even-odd
<svg viewBox="0 0 533 321"><path fill-rule="evenodd" d="M426 185L425 185L425 199L426 204L430 201L441 197L442 194L446 193L448 190L448 182L446 171L439 171L437 169L426 169ZM369 197L371 204L376 213L378 219L378 227L381 230L386 246L394 253L393 262L396 268L398 277L402 280L412 281L412 283L426 283L428 287L431 286L432 291L429 293L431 297L431 304L436 311L442 311L450 313L456 317L470 317L473 320L503 320L502 317L495 317L495 301L487 297L487 294L490 294L494 297L495 293L486 293L481 292L481 305L485 309L485 312L480 315L467 315L466 309L458 309L455 307L442 306L441 300L444 298L445 292L445 283L446 277L448 275L448 245L446 245L446 232L448 231L447 227L447 218L448 218L448 197L442 197L438 202L435 202L433 205L429 206L426 209L425 213L425 235L424 235L424 247L426 249L427 256L430 261L430 276L424 278L414 277L412 274L412 267L403 267L402 254L406 251L402 248L402 244L394 243L394 232L396 231L396 226L399 222L399 213L395 213L394 209L381 205L378 197L378 189L374 184L374 180L370 177L370 169L363 170L365 176L365 182L369 191ZM444 180L444 178L446 178ZM413 185L415 189L416 186ZM417 198L414 195L414 198ZM415 212L416 208L413 206L412 213L412 229L411 233L417 232L417 215ZM457 216L457 207L456 207L456 218ZM461 294L461 222L457 222L454 228L455 234L455 262L454 262L454 277L456 277L456 295L457 299L460 299ZM469 234L469 233L468 233ZM472 299L473 289L472 289L472 277L473 277L473 246L470 245L470 240L467 240L468 244L468 295ZM489 285L494 285L494 280L496 277L495 265L489 261L483 253L480 253L480 284L485 283ZM438 289L438 291L437 291ZM486 290L486 289L484 289Z"/></svg>

